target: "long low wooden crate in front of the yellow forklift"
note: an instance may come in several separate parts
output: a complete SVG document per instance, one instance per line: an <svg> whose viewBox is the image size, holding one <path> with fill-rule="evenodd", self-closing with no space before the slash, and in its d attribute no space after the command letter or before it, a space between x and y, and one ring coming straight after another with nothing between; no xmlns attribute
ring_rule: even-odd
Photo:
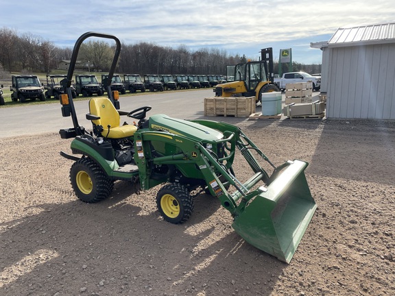
<svg viewBox="0 0 395 296"><path fill-rule="evenodd" d="M211 97L204 99L204 116L248 117L255 112L255 97Z"/></svg>

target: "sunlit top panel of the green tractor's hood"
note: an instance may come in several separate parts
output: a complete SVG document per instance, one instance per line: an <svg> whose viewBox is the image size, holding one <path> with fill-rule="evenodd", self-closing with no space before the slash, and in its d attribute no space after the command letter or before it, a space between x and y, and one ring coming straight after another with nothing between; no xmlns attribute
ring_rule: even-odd
<svg viewBox="0 0 395 296"><path fill-rule="evenodd" d="M164 114L156 114L149 117L149 130L160 130L171 134L187 136L197 142L202 140L214 141L224 138L222 132L213 130L210 127L183 119L173 119Z"/></svg>

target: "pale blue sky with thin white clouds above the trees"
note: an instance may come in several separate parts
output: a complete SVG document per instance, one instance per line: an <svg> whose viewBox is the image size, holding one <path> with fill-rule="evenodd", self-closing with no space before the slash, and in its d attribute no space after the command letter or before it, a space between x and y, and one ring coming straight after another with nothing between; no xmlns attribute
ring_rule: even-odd
<svg viewBox="0 0 395 296"><path fill-rule="evenodd" d="M294 62L321 64L311 42L328 41L339 27L395 21L391 1L312 0L19 0L1 1L0 28L73 47L85 32L125 44L152 42L190 51L220 49L258 60L272 47L292 49ZM1 46L1 45L0 45Z"/></svg>

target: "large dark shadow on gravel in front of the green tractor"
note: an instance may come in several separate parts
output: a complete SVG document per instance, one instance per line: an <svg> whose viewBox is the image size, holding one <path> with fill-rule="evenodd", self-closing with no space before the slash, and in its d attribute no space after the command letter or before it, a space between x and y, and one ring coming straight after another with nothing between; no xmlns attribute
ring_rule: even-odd
<svg viewBox="0 0 395 296"><path fill-rule="evenodd" d="M287 266L213 222L217 199L197 197L190 221L173 225L141 214L145 195L130 204L128 184L115 187L99 204L40 204L1 223L0 295L270 295Z"/></svg>

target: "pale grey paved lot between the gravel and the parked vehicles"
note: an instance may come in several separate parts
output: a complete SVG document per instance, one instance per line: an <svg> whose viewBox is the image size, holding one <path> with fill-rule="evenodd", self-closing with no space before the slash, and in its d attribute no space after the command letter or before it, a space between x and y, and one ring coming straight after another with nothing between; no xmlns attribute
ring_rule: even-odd
<svg viewBox="0 0 395 296"><path fill-rule="evenodd" d="M169 91L163 93L144 93L121 97L119 102L121 110L131 111L141 106L152 106L149 115L167 114L180 119L197 119L204 117L204 98L213 97L211 88L188 91ZM317 96L318 93L313 95ZM284 101L284 94L283 94ZM76 101L78 121L86 128L91 123L85 119L88 113L88 101ZM256 112L261 111L260 107ZM285 117L283 116L282 119ZM246 118L235 119L233 117L208 117L217 121L230 121L232 123L245 121ZM131 121L131 119L130 119ZM0 138L21 136L29 134L43 134L58 132L62 128L72 127L70 117L62 117L60 104L29 105L23 103L14 108L0 109L1 132Z"/></svg>

